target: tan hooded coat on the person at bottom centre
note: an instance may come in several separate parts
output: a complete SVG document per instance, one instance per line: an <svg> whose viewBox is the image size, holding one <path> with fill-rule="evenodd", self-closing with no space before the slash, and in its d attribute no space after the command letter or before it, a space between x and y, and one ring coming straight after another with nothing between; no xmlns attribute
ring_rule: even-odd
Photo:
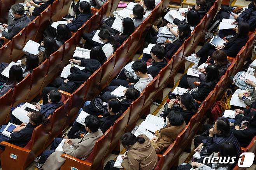
<svg viewBox="0 0 256 170"><path fill-rule="evenodd" d="M127 152L128 158L123 160L121 166L125 170L154 170L157 165L156 151L145 134L139 136L143 137L145 142L133 144Z"/></svg>

